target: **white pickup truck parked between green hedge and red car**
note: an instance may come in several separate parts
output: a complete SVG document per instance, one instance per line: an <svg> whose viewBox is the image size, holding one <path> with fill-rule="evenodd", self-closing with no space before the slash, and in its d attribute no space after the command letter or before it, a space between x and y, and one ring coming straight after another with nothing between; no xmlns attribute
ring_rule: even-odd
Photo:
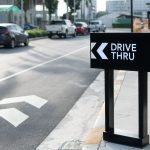
<svg viewBox="0 0 150 150"><path fill-rule="evenodd" d="M76 27L67 19L52 20L50 25L46 25L46 30L49 38L54 35L60 38L62 36L66 38L68 35L76 37Z"/></svg>

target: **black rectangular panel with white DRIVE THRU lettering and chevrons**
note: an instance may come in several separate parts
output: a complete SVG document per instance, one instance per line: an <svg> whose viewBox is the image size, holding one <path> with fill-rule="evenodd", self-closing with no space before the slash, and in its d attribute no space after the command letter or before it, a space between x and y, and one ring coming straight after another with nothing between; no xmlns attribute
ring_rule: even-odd
<svg viewBox="0 0 150 150"><path fill-rule="evenodd" d="M91 33L91 67L150 71L150 33Z"/></svg>

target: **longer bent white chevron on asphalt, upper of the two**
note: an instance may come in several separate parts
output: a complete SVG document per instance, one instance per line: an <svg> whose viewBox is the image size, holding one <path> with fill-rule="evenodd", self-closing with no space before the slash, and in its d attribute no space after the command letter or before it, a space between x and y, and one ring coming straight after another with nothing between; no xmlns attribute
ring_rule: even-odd
<svg viewBox="0 0 150 150"><path fill-rule="evenodd" d="M21 102L26 102L26 103L40 109L48 101L43 98L40 98L36 95L29 95L29 96L21 96L21 97L13 97L13 98L3 99L0 101L0 105L21 103Z"/></svg>

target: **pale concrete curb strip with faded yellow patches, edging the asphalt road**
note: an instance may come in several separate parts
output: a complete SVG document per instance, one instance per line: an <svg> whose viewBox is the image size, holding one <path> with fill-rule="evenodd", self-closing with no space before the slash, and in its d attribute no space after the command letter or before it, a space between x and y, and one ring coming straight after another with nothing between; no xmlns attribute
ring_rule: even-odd
<svg viewBox="0 0 150 150"><path fill-rule="evenodd" d="M125 72L117 71L115 76L114 91L117 99ZM102 137L103 131L104 72L102 71L36 150L96 150L102 141L100 135Z"/></svg>

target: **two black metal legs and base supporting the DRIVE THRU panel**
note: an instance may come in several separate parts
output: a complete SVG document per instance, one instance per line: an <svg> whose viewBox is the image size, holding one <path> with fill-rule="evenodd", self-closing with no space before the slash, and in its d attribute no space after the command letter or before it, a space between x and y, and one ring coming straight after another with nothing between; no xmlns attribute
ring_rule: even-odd
<svg viewBox="0 0 150 150"><path fill-rule="evenodd" d="M138 71L139 92L139 138L118 135L114 132L114 70L105 69L105 132L106 141L143 147L149 144L147 129L147 72Z"/></svg>

